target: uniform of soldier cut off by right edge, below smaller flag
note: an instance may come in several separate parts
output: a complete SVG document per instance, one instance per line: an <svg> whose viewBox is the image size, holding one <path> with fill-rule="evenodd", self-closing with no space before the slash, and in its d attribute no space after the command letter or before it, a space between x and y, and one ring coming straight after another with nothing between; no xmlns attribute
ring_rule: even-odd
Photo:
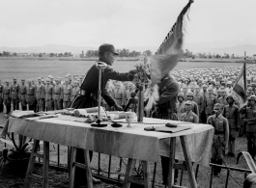
<svg viewBox="0 0 256 188"><path fill-rule="evenodd" d="M251 95L248 100L256 102L256 96ZM247 137L247 150L254 158L256 156L256 108L254 106L244 106L240 113L244 115L246 121L246 137Z"/></svg>

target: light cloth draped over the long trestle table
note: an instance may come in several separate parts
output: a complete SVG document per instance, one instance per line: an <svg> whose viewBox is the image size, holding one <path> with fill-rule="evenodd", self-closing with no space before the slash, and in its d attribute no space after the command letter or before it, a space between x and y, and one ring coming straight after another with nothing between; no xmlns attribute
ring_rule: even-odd
<svg viewBox="0 0 256 188"><path fill-rule="evenodd" d="M38 141L152 162L158 161L160 155L170 157L171 145L175 147L175 159L185 161L183 143L180 139L173 140L180 137L187 141L185 147L188 148L192 162L209 165L214 131L212 125L191 123L187 130L166 133L145 131L144 128L174 121L144 118L143 123L133 123L132 127L127 127L127 123L123 123L119 128L114 128L110 124L106 127L92 127L84 121L82 118L64 115L39 121L10 118L8 132ZM176 144L172 144L172 141Z"/></svg>

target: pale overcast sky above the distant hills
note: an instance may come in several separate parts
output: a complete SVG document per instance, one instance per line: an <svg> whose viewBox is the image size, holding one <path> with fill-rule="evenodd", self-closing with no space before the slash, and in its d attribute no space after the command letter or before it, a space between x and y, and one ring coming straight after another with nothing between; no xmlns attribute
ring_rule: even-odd
<svg viewBox="0 0 256 188"><path fill-rule="evenodd" d="M159 46L188 0L0 0L0 46ZM256 0L194 0L185 41L255 38Z"/></svg>

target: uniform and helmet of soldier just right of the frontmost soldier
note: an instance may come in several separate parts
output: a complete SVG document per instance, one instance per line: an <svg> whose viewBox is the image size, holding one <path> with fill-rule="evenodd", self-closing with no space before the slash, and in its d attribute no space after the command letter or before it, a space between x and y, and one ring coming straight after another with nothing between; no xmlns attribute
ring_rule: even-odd
<svg viewBox="0 0 256 188"><path fill-rule="evenodd" d="M232 94L229 94L226 99L232 97L234 102L235 98ZM239 107L233 102L232 105L226 105L223 109L223 117L228 120L229 124L229 144L228 144L228 155L235 156L235 140L238 136L238 129L240 128L240 113Z"/></svg>

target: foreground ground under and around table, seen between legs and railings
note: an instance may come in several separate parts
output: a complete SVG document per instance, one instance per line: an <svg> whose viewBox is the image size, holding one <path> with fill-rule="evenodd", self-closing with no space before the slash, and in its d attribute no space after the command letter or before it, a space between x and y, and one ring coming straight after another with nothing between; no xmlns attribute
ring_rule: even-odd
<svg viewBox="0 0 256 188"><path fill-rule="evenodd" d="M3 114L0 114L0 125L4 125L7 119L4 117ZM0 129L1 132L1 129ZM4 144L0 143L0 150L4 148ZM58 165L58 157L57 157L57 145L56 144L50 144L50 164L51 165ZM238 154L240 151L246 150L246 139L245 137L240 137L237 140L237 152ZM68 167L68 148L64 146L60 146L60 159L59 163L61 167L67 168ZM98 174L98 161L99 161L99 154L94 153L93 161L91 163L93 173ZM225 164L227 166L231 167L237 167L237 168L243 168L243 169L248 169L244 159L240 160L240 164L236 164L236 158L232 157L227 157L225 156L224 158ZM108 172L108 162L109 162L109 156L101 154L100 155L100 175L105 175L107 176ZM119 157L114 157L112 156L111 160L111 173L110 177L111 178L118 178L120 175L120 178L124 178L124 174L126 171L126 164L127 164L127 159L124 159L124 161L120 165L120 158ZM160 167L160 161L157 162L156 165L156 183L155 187L164 187L162 186L161 183L161 167ZM120 170L121 169L121 170ZM154 172L154 164L151 163L151 172L153 175ZM25 172L25 171L24 171ZM1 172L0 172L0 187L1 188L20 188L23 185L24 182L24 172L20 173L17 172L16 169L10 169L8 166L5 167ZM42 175L42 168L41 167L36 167L34 170L34 173L37 175ZM198 187L200 188L207 188L210 185L210 173L211 173L211 168L209 167L202 167L200 166L199 168L199 174L198 174ZM219 187L224 187L225 186L225 180L226 180L226 170L222 170L221 176L220 177L213 177L213 188L219 188ZM236 187L241 187L244 179L244 174L239 173L239 172L232 172L231 171L232 177L229 177L229 186L232 188ZM179 174L179 180L181 178L181 173ZM237 182L240 184L238 184ZM31 180L31 187L32 188L38 188L42 186L42 182L39 180ZM183 177L183 186L188 185L188 177L186 173L184 173ZM50 168L49 170L49 187L50 188L65 188L69 187L69 175L67 171L58 171ZM103 188L103 187L119 187L114 183L109 183L109 182L103 182L101 181L100 184L94 185L94 187L98 188Z"/></svg>

